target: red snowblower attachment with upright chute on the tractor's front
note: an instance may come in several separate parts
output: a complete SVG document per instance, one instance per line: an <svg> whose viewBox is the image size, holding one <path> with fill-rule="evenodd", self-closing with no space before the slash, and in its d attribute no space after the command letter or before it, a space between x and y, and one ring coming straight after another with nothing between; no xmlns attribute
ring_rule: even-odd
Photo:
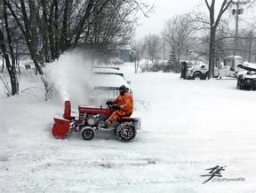
<svg viewBox="0 0 256 193"><path fill-rule="evenodd" d="M70 101L65 101L64 119L54 118L54 125L52 127L52 135L57 139L64 139L68 135L71 118L71 104Z"/></svg>

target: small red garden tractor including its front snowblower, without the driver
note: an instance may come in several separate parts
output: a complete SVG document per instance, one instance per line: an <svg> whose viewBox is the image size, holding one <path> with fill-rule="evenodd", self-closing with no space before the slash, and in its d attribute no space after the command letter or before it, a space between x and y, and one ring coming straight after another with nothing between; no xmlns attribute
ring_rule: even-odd
<svg viewBox="0 0 256 193"><path fill-rule="evenodd" d="M115 111L115 107L112 104L108 104L107 108L79 105L78 111L79 118L72 117L70 101L66 101L63 119L54 118L52 135L57 139L64 139L69 133L80 132L84 140L91 140L95 130L104 129L98 126L99 123L107 120ZM136 136L139 128L140 118L121 117L105 130L114 130L119 141L130 142Z"/></svg>

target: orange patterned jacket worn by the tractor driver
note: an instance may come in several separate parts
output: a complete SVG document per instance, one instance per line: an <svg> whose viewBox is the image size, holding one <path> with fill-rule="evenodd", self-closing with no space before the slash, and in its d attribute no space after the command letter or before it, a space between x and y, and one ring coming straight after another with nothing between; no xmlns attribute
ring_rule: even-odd
<svg viewBox="0 0 256 193"><path fill-rule="evenodd" d="M120 106L120 110L132 113L133 111L133 97L130 92L125 92L123 96L118 96L116 99L112 101L113 104L118 104Z"/></svg>

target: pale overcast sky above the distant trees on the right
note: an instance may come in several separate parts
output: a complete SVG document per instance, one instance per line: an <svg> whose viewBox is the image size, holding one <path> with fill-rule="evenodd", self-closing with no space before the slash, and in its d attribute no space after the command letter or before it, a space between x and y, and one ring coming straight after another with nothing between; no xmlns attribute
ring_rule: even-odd
<svg viewBox="0 0 256 193"><path fill-rule="evenodd" d="M149 18L140 16L140 26L137 27L136 36L142 37L148 34L160 33L164 28L164 23L167 19L171 19L172 16L177 14L184 14L186 12L191 12L192 10L206 11L206 5L204 0L143 0L148 2L148 4L155 4L155 12L150 13ZM220 4L223 0L216 0L216 10L219 11ZM211 1L210 1L211 2ZM230 10L227 12L226 16L229 17L230 21L235 23L234 17L230 15ZM249 12L249 11L248 11ZM254 15L255 22L255 11L251 9L250 16L243 14L241 18L242 27L246 22L252 23L252 14ZM243 23L244 22L244 23Z"/></svg>

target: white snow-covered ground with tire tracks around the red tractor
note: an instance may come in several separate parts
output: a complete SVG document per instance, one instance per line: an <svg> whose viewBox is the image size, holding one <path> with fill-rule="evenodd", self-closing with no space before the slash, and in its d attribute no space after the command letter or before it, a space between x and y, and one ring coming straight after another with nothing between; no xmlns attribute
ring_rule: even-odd
<svg viewBox="0 0 256 193"><path fill-rule="evenodd" d="M92 141L76 134L56 140L52 119L62 102L44 102L33 75L20 79L20 96L1 93L0 192L256 192L256 92L237 90L236 80L122 68L142 120L132 143L118 142L112 131ZM215 166L225 170L213 180L245 180L202 184Z"/></svg>

